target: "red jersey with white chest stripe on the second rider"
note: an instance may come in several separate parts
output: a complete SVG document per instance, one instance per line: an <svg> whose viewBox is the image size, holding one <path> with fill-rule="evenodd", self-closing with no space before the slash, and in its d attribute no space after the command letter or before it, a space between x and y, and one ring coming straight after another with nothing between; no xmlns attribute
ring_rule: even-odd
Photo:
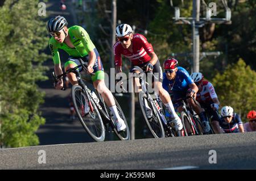
<svg viewBox="0 0 256 181"><path fill-rule="evenodd" d="M154 50L152 45L147 42L146 37L136 33L133 35L132 43L133 52L130 52L127 48L123 48L120 41L117 41L114 44L115 66L122 65L122 54L129 58L133 65L140 65L144 62L150 61L151 57L148 54L154 52Z"/></svg>

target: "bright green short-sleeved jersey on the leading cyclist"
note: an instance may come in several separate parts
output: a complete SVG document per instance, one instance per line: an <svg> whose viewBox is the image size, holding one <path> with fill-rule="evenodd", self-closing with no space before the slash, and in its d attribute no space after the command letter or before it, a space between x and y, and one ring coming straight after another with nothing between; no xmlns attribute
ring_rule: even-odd
<svg viewBox="0 0 256 181"><path fill-rule="evenodd" d="M68 35L70 36L71 43L75 48L68 47L67 44L57 42L54 37L49 39L49 49L52 53L54 64L60 64L60 55L58 49L63 49L73 57L84 57L88 52L95 48L95 45L90 40L88 33L80 26L72 26L68 28Z"/></svg>

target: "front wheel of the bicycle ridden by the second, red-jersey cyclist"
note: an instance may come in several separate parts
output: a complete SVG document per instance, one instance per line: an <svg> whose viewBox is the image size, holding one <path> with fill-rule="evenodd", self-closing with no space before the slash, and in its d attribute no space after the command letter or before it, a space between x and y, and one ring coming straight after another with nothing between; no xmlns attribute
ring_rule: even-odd
<svg viewBox="0 0 256 181"><path fill-rule="evenodd" d="M146 111L144 110L144 99L148 102L148 106L151 108L152 111L152 119L148 120ZM160 119L159 112L156 110L155 105L152 105L150 101L148 101L146 93L145 92L139 92L139 105L141 106L141 111L144 117L144 120L146 121L147 127L150 130L152 136L154 138L164 138L164 128L162 121Z"/></svg>

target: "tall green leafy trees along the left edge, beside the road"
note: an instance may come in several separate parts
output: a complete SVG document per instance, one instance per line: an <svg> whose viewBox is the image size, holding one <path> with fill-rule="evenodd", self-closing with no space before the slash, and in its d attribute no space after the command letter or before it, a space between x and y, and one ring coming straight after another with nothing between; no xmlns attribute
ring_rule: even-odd
<svg viewBox="0 0 256 181"><path fill-rule="evenodd" d="M35 132L44 124L36 81L47 79L42 64L48 56L40 51L48 38L38 3L10 0L0 8L0 142L7 147L39 144Z"/></svg>

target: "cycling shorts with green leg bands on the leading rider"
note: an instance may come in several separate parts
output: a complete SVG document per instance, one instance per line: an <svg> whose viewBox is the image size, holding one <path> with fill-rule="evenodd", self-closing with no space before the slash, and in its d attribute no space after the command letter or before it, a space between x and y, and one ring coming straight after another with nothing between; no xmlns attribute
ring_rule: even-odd
<svg viewBox="0 0 256 181"><path fill-rule="evenodd" d="M93 65L93 73L95 75L92 75L92 81L97 81L97 80L104 80L104 68L101 62L100 54L98 54L98 51L96 48L93 49L95 54L96 54L96 60ZM69 65L73 64L75 66L80 65L80 62L78 58L81 58L84 62L89 61L89 55L84 56L84 57L69 57L68 60L65 62L64 69ZM79 68L79 71L82 71L82 67Z"/></svg>

